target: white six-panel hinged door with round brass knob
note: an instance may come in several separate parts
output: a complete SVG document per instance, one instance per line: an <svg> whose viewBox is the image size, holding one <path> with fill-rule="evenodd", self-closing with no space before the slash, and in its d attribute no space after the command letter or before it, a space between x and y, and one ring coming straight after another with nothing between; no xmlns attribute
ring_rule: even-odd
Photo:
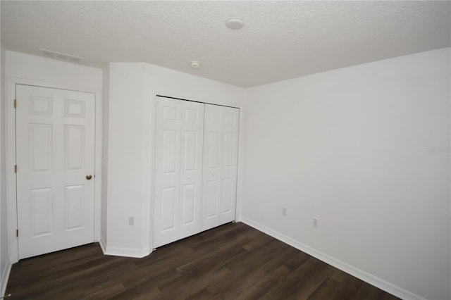
<svg viewBox="0 0 451 300"><path fill-rule="evenodd" d="M19 258L94 242L94 94L16 85L16 99Z"/></svg>

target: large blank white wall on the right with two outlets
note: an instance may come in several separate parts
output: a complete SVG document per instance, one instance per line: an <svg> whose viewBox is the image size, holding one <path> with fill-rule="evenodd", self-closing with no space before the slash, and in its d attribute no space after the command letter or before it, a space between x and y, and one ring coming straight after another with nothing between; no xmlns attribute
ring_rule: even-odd
<svg viewBox="0 0 451 300"><path fill-rule="evenodd" d="M450 299L450 85L448 48L247 89L243 219L407 299Z"/></svg>

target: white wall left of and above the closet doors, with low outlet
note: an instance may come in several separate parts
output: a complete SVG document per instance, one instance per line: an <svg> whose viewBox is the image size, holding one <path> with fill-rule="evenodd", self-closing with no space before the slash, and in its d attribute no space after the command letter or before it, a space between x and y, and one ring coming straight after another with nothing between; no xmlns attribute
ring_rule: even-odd
<svg viewBox="0 0 451 300"><path fill-rule="evenodd" d="M111 63L106 254L152 249L153 116L156 94L242 107L243 89L147 63ZM135 225L128 225L128 217Z"/></svg>

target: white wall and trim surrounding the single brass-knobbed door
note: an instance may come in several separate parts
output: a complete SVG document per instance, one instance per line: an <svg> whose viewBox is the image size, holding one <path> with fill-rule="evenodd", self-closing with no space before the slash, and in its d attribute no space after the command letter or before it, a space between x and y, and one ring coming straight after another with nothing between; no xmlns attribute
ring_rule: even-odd
<svg viewBox="0 0 451 300"><path fill-rule="evenodd" d="M99 68L90 68L84 65L56 61L41 56L32 56L15 51L6 51L5 76L7 81L6 91L6 177L7 177L7 198L8 198L8 234L10 242L10 258L14 263L18 260L16 230L16 194L15 180L13 171L14 163L14 110L12 107L14 99L15 82L27 82L32 85L42 85L48 87L63 87L67 89L76 89L85 92L94 92L96 94L96 111L101 111L101 89L102 89L102 70ZM96 119L96 139L101 141L101 115ZM96 145L96 199L101 195L101 143ZM8 172L9 170L9 172ZM98 171L97 171L98 170ZM8 180L9 179L9 180ZM97 201L96 209L100 210L100 201ZM100 215L100 214L99 214ZM100 218L96 218L97 232L96 238L100 236Z"/></svg>

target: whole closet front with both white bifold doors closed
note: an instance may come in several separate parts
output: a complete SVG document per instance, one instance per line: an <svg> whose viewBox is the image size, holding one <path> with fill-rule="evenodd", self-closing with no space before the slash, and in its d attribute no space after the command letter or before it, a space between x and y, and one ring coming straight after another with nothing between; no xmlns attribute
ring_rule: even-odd
<svg viewBox="0 0 451 300"><path fill-rule="evenodd" d="M156 97L154 247L235 220L239 109Z"/></svg>

